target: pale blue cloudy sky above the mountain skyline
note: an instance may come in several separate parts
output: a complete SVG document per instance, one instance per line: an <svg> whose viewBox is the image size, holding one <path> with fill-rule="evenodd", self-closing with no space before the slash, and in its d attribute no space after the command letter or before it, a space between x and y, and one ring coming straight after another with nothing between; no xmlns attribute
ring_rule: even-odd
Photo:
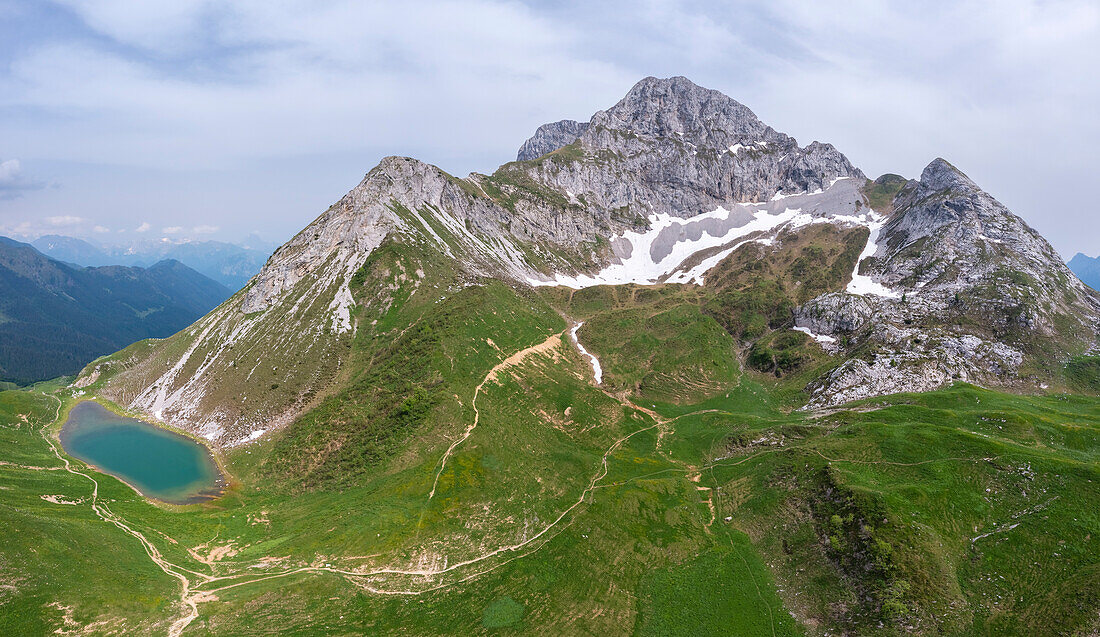
<svg viewBox="0 0 1100 637"><path fill-rule="evenodd" d="M283 241L385 155L492 172L685 75L1100 253L1100 3L824 4L0 0L0 233Z"/></svg>

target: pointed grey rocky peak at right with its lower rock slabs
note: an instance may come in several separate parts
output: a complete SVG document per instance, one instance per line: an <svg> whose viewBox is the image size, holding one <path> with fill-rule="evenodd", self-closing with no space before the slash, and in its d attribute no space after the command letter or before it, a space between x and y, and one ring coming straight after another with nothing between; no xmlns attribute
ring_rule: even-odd
<svg viewBox="0 0 1100 637"><path fill-rule="evenodd" d="M946 161L898 193L893 210L860 265L891 295L826 295L795 311L798 326L869 352L816 381L811 406L960 380L1014 384L1026 351L1096 344L1100 295Z"/></svg>

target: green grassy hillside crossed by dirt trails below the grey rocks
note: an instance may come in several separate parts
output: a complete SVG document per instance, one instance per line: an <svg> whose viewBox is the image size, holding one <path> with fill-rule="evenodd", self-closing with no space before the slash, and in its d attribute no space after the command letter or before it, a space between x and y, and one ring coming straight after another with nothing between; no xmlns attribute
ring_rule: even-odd
<svg viewBox="0 0 1100 637"><path fill-rule="evenodd" d="M702 288L404 276L428 259L367 263L342 388L227 452L211 503L66 471L79 397L0 394L4 631L1096 630L1100 400L789 411L798 378L741 371Z"/></svg>

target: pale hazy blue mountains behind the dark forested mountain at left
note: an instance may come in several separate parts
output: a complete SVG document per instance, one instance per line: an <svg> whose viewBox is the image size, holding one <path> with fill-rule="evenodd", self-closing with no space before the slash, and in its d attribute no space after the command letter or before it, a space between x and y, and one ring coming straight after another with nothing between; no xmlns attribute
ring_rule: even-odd
<svg viewBox="0 0 1100 637"><path fill-rule="evenodd" d="M258 240L248 245L222 241L190 241L169 243L140 241L125 245L96 245L84 239L46 234L31 242L40 252L74 265L138 265L147 267L165 259L209 276L232 290L244 287L252 275L260 272L272 248Z"/></svg>

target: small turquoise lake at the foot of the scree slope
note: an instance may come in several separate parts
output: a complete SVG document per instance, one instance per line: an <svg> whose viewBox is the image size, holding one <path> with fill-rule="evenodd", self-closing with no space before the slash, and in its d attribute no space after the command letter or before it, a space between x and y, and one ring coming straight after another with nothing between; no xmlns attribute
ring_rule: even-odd
<svg viewBox="0 0 1100 637"><path fill-rule="evenodd" d="M198 442L85 400L62 427L69 455L125 481L143 495L173 504L216 497L224 484L210 451Z"/></svg>

